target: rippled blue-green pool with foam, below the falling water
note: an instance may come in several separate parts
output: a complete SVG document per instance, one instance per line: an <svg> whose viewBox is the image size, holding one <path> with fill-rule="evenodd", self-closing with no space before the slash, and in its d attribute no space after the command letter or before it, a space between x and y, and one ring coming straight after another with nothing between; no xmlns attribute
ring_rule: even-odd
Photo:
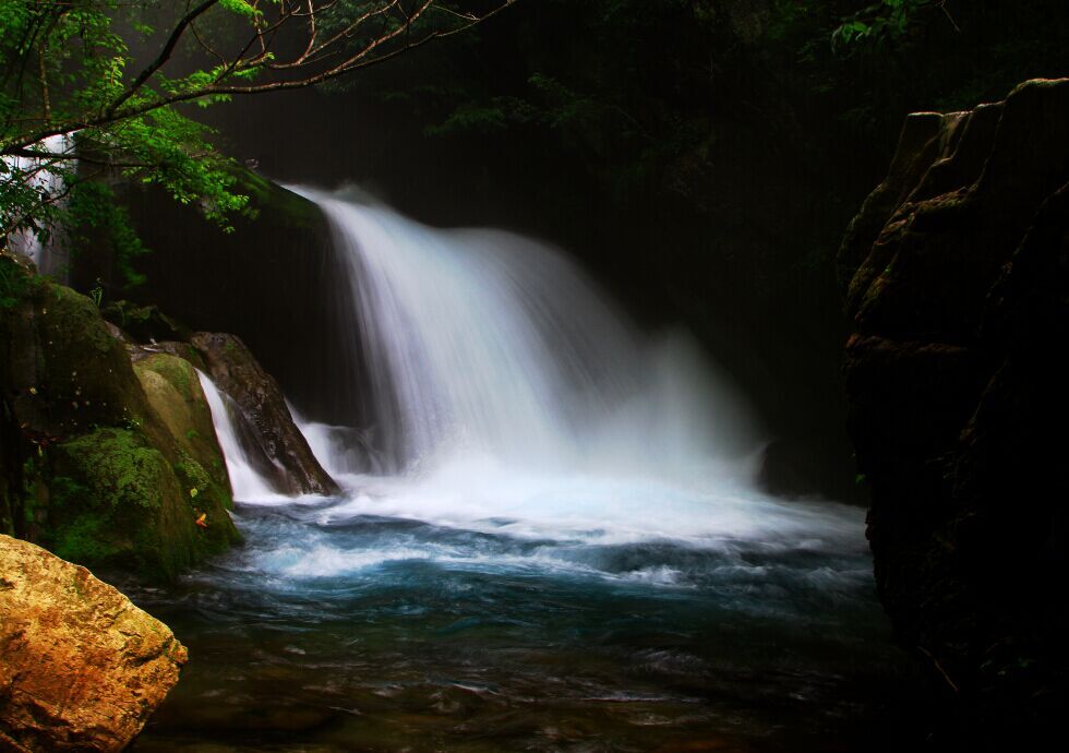
<svg viewBox="0 0 1069 753"><path fill-rule="evenodd" d="M538 515L483 517L441 479L362 481L241 504L244 548L134 593L192 656L134 750L890 750L912 679L861 511L650 487L629 509L580 479L553 490L570 510L530 480ZM624 503L600 527L599 494Z"/></svg>

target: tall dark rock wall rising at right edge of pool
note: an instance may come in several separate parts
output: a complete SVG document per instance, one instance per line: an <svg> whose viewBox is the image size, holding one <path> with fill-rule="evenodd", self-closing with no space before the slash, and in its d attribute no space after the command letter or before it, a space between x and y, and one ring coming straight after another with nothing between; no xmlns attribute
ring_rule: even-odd
<svg viewBox="0 0 1069 753"><path fill-rule="evenodd" d="M881 598L977 729L1053 725L1069 678L1069 80L911 116L839 262Z"/></svg>

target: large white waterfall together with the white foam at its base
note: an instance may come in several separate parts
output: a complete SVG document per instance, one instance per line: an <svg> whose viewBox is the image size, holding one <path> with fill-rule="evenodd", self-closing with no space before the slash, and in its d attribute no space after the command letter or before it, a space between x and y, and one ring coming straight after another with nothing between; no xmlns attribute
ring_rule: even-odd
<svg viewBox="0 0 1069 753"><path fill-rule="evenodd" d="M637 332L555 249L297 190L333 229L362 371L347 386L371 392L380 454L353 452L350 428L302 425L350 490L319 524L388 516L584 546L863 542L857 511L758 491L761 443L738 393L690 337ZM323 561L369 559L315 546Z"/></svg>

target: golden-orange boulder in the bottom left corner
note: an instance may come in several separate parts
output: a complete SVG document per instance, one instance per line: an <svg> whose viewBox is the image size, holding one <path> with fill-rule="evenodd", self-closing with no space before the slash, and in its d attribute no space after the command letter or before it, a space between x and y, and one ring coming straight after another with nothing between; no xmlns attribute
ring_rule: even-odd
<svg viewBox="0 0 1069 753"><path fill-rule="evenodd" d="M0 536L0 750L120 751L185 661L167 625L85 567Z"/></svg>

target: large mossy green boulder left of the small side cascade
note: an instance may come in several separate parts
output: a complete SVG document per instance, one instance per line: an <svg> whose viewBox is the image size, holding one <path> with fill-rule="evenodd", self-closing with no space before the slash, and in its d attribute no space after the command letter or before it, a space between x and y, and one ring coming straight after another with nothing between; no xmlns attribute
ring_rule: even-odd
<svg viewBox="0 0 1069 753"><path fill-rule="evenodd" d="M0 308L0 533L165 579L238 541L192 368L159 355L135 369L140 349L93 301L0 263L23 280Z"/></svg>

